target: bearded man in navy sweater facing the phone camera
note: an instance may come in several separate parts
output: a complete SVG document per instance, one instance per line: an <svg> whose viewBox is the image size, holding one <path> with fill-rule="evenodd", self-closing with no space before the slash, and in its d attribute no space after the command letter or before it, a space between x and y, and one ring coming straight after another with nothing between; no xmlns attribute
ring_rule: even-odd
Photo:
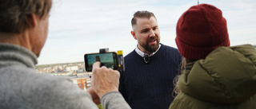
<svg viewBox="0 0 256 109"><path fill-rule="evenodd" d="M124 57L119 91L133 109L166 109L174 97L173 80L182 56L178 49L160 43L158 21L150 11L134 14L130 32L137 47Z"/></svg>

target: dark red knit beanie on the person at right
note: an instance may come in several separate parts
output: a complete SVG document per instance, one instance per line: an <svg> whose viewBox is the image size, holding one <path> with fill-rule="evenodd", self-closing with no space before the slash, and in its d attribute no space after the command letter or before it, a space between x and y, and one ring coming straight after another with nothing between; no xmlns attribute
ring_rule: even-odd
<svg viewBox="0 0 256 109"><path fill-rule="evenodd" d="M219 46L230 46L222 10L208 4L192 6L178 19L176 45L186 59L199 60Z"/></svg>

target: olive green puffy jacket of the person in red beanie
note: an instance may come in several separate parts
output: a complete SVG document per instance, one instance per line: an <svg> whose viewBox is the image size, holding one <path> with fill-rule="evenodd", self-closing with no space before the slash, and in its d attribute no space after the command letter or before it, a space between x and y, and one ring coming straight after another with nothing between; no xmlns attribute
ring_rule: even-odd
<svg viewBox="0 0 256 109"><path fill-rule="evenodd" d="M170 109L256 109L255 65L252 45L215 49L186 65Z"/></svg>

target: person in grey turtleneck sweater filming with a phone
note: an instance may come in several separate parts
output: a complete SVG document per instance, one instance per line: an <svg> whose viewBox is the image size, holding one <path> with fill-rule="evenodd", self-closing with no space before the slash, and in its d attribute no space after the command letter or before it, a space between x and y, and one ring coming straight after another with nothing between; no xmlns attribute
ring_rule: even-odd
<svg viewBox="0 0 256 109"><path fill-rule="evenodd" d="M0 108L98 109L97 99L105 109L130 108L118 92L119 72L99 63L88 91L67 78L35 72L51 5L51 0L0 0Z"/></svg>

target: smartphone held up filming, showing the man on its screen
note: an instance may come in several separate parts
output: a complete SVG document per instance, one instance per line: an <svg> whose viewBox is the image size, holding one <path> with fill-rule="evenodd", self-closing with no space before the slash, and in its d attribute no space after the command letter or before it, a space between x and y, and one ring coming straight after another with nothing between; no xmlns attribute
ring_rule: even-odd
<svg viewBox="0 0 256 109"><path fill-rule="evenodd" d="M93 64L96 61L100 61L101 66L118 70L118 55L117 53L87 53L84 56L86 72L91 72Z"/></svg>

